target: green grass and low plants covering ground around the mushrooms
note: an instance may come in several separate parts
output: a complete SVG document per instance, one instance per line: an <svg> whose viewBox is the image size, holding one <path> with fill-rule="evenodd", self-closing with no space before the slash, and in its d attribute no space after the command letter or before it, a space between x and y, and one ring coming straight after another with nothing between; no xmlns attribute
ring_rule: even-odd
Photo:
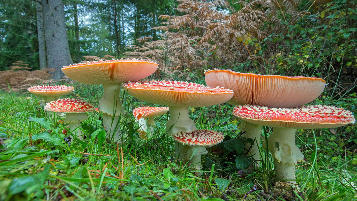
<svg viewBox="0 0 357 201"><path fill-rule="evenodd" d="M75 90L67 97L95 104L102 95L97 85L75 84ZM357 200L353 196L357 193L356 125L298 130L296 144L306 156L306 162L296 168L300 190L282 193L274 188L272 159L262 148L263 160L247 167L248 173L238 170L229 154L217 157L217 147L202 157L202 171L190 171L188 164L175 158L174 142L165 134L168 116L156 119L149 139L140 138L131 111L152 104L125 93L121 131L127 143L119 145L120 162L116 144L103 138L99 113L88 113L83 122L84 142L72 138L67 143L61 132L66 125L58 123L61 119L49 119L38 101L28 93L0 93L0 201L241 200L254 185L257 190L245 200ZM326 97L317 103L338 103L356 112L356 101L353 96L338 101ZM228 104L189 110L197 128L230 137L240 134L240 121L232 117ZM269 134L266 128L262 139Z"/></svg>

